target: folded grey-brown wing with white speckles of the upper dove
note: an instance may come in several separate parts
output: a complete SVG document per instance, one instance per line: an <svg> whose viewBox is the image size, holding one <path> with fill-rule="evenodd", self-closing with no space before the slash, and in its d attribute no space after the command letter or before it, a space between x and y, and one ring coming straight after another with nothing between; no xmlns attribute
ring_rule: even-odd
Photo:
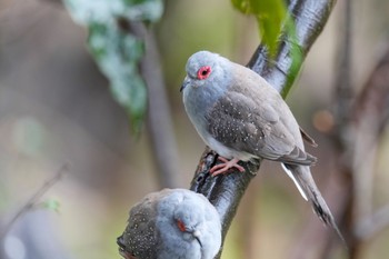
<svg viewBox="0 0 389 259"><path fill-rule="evenodd" d="M296 146L271 102L256 97L229 89L207 114L211 136L237 151L290 165L312 165L316 158Z"/></svg>

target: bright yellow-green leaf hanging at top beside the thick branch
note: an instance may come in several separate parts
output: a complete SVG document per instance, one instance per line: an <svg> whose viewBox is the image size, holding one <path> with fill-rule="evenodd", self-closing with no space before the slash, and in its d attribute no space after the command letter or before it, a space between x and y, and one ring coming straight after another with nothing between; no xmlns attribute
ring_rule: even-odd
<svg viewBox="0 0 389 259"><path fill-rule="evenodd" d="M245 14L252 14L258 22L259 34L268 47L270 57L278 52L282 24L287 18L283 0L231 0L232 6Z"/></svg>

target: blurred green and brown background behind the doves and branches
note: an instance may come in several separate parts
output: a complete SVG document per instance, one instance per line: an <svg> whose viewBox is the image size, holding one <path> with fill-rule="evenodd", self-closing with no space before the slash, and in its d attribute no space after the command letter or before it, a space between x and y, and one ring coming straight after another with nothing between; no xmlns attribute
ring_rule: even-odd
<svg viewBox="0 0 389 259"><path fill-rule="evenodd" d="M301 127L318 142L312 168L326 189L335 170L330 141L339 44L338 2L309 52L287 101ZM353 1L352 86L359 91L389 46L389 2ZM202 49L247 63L259 43L255 19L230 1L168 0L152 27L161 54L173 137L179 155L178 187L188 188L205 145L188 120L179 87L188 57ZM34 207L4 239L0 258L120 258L116 238L130 207L160 190L148 127L130 135L126 112L86 47L87 31L50 0L0 0L0 223L7 226L28 199L64 163L70 167L41 199L58 212ZM389 203L389 131L373 161L372 208ZM341 185L326 193L338 193ZM335 189L333 189L335 188ZM337 197L329 198L329 206ZM335 213L337 213L335 211ZM251 182L227 236L222 258L290 258L308 221L321 226L292 181L265 162ZM22 239L20 239L22 237ZM365 242L360 258L387 258L389 230ZM315 246L315 242L312 242ZM307 246L308 258L318 258ZM342 258L336 252L333 258Z"/></svg>

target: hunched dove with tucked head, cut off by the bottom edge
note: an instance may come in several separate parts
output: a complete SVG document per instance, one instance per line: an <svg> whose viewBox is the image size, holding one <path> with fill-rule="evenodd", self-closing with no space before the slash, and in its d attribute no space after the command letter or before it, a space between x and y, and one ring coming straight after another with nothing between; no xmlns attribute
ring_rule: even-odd
<svg viewBox="0 0 389 259"><path fill-rule="evenodd" d="M221 246L220 217L200 193L163 189L131 208L118 245L126 259L213 259Z"/></svg>

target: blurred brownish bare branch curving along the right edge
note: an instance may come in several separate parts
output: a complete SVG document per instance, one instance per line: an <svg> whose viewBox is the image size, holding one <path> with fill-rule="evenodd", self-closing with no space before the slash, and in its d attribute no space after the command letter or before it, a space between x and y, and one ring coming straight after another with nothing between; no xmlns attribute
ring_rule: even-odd
<svg viewBox="0 0 389 259"><path fill-rule="evenodd" d="M371 72L356 100L353 118L356 146L353 172L356 178L356 239L370 239L389 222L389 206L371 216L375 158L382 130L388 122L389 108L389 49ZM387 218L382 218L387 217Z"/></svg>

